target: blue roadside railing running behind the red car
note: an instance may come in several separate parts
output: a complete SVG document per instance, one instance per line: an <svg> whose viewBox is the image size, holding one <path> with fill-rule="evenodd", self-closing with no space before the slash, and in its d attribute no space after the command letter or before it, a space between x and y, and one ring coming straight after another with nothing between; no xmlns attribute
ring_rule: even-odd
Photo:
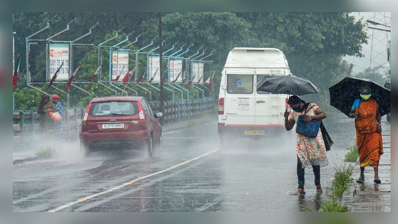
<svg viewBox="0 0 398 224"><path fill-rule="evenodd" d="M160 102L150 103L154 112L160 112ZM213 98L200 98L191 100L175 100L164 102L164 124L186 120L201 114L211 113L214 108ZM79 136L86 108L71 108L65 110L63 134L67 138ZM13 137L14 141L22 140L24 136L37 133L39 128L39 114L37 111L14 111L13 112Z"/></svg>

